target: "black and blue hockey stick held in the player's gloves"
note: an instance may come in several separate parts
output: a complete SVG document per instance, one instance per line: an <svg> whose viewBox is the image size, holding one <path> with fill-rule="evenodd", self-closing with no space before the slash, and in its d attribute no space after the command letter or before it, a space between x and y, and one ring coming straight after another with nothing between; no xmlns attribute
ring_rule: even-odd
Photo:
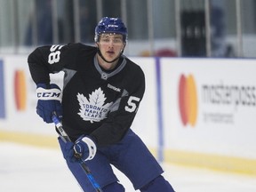
<svg viewBox="0 0 256 192"><path fill-rule="evenodd" d="M60 132L60 138L64 142L71 141L70 138L68 137L67 132L63 130L62 124L60 123L59 118L56 116L55 113L52 114L52 121L55 124L57 130ZM94 180L94 177L92 176L92 172L90 171L89 167L85 164L84 160L81 158L81 156L76 155L76 158L79 159L79 163L84 170L88 180L92 183L92 187L95 188L97 192L103 192L102 189L100 188L100 185Z"/></svg>

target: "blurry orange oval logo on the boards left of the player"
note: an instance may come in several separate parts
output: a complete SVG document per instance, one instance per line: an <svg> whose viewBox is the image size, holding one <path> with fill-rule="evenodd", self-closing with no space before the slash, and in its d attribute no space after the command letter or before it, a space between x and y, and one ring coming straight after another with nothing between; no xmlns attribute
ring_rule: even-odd
<svg viewBox="0 0 256 192"><path fill-rule="evenodd" d="M27 86L23 70L16 70L14 74L14 100L17 110L23 111L26 109Z"/></svg>

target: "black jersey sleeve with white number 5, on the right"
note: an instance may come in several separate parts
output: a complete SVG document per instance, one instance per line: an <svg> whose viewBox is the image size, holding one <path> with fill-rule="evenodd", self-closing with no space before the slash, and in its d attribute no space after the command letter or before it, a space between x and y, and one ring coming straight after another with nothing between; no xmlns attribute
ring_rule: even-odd
<svg viewBox="0 0 256 192"><path fill-rule="evenodd" d="M100 147L122 140L136 116L145 92L145 76L141 69L132 74L130 82L127 82L127 90L124 89L121 97L112 105L106 122L91 133Z"/></svg>

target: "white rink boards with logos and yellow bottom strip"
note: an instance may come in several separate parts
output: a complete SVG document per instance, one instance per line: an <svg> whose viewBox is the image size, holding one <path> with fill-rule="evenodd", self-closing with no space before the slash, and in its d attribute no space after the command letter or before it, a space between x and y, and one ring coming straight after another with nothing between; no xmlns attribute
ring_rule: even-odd
<svg viewBox="0 0 256 192"><path fill-rule="evenodd" d="M160 161L256 174L256 60L131 59L146 76L132 129ZM0 56L0 140L57 147L35 108L27 55Z"/></svg>

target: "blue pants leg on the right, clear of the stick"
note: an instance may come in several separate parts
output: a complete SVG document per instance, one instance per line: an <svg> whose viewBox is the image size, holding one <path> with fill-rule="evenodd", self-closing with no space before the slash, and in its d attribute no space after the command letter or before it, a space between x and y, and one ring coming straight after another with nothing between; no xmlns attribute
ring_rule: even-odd
<svg viewBox="0 0 256 192"><path fill-rule="evenodd" d="M102 152L110 156L111 164L124 172L135 189L142 188L163 173L156 158L132 130L127 132L123 140Z"/></svg>

